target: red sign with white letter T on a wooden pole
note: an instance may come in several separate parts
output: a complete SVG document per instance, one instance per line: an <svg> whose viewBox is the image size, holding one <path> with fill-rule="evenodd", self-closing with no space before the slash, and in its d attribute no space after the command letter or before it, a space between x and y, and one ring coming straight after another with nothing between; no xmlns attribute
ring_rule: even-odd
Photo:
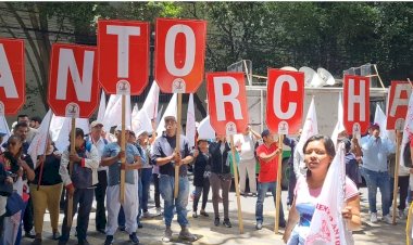
<svg viewBox="0 0 413 245"><path fill-rule="evenodd" d="M139 95L148 85L149 23L99 21L98 50L104 91Z"/></svg>

